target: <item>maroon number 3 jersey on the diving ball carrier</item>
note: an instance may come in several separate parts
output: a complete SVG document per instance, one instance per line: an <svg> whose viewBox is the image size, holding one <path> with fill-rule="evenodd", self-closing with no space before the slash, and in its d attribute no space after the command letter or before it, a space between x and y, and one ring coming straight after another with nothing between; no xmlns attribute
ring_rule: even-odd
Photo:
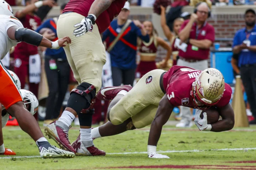
<svg viewBox="0 0 256 170"><path fill-rule="evenodd" d="M192 83L201 73L201 70L194 70L190 67L172 66L164 75L164 87L169 102L173 106L187 106L190 108L204 109L206 106L196 106L192 98ZM220 101L214 105L221 108L227 105L231 99L232 89L225 83L225 90Z"/></svg>

